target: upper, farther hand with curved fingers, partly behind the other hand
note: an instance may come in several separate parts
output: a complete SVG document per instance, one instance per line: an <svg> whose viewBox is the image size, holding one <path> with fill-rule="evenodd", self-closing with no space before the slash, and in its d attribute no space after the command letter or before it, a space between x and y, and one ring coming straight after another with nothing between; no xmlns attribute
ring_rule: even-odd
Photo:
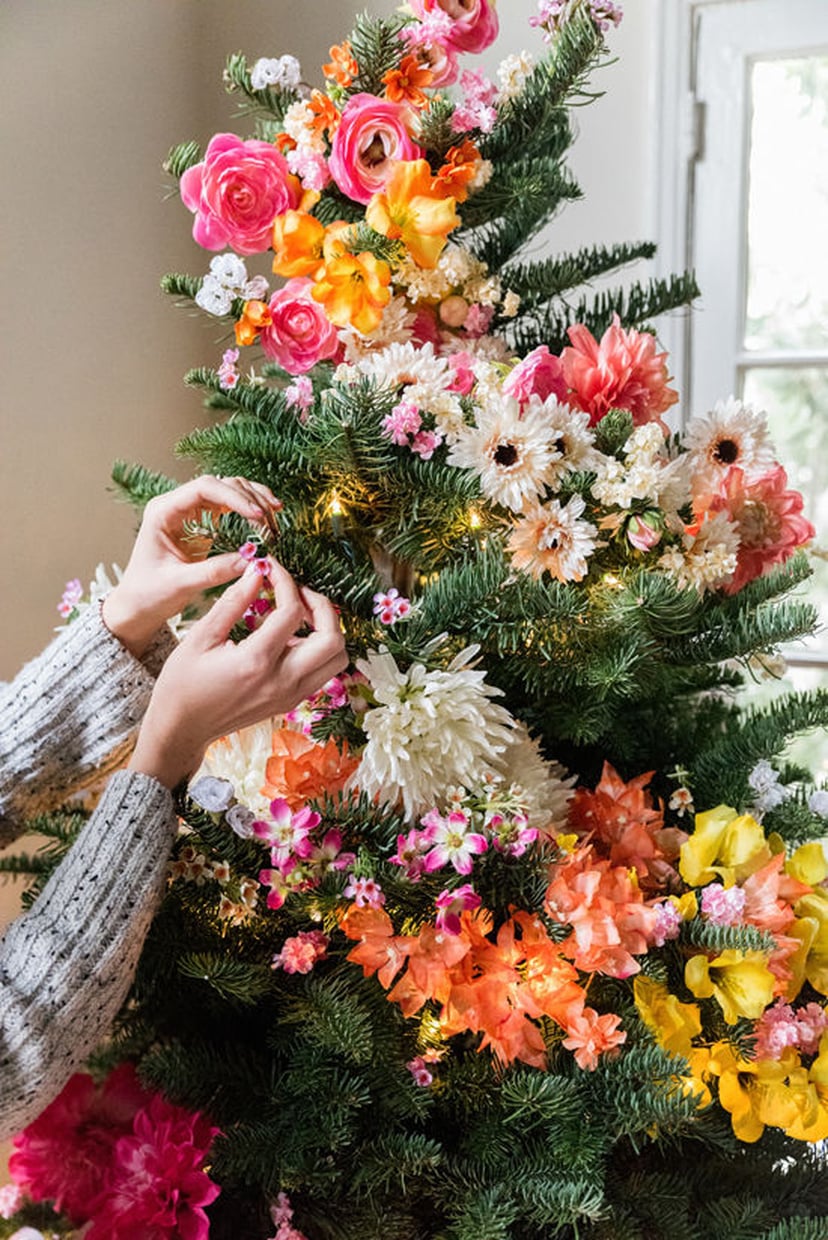
<svg viewBox="0 0 828 1240"><path fill-rule="evenodd" d="M262 523L264 513L278 507L274 494L259 482L211 475L150 500L126 572L103 603L109 631L140 658L165 620L202 590L244 572L245 562L234 553L207 559L208 546L187 538L186 521L198 521L208 510Z"/></svg>

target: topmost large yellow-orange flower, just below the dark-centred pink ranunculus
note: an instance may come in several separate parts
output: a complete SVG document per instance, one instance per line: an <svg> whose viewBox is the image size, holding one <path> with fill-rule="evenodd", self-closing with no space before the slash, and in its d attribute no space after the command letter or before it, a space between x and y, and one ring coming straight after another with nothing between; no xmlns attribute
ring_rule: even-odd
<svg viewBox="0 0 828 1240"><path fill-rule="evenodd" d="M390 241L402 241L418 267L436 265L446 237L460 223L455 200L435 193L424 159L400 160L382 193L374 193L366 219Z"/></svg>

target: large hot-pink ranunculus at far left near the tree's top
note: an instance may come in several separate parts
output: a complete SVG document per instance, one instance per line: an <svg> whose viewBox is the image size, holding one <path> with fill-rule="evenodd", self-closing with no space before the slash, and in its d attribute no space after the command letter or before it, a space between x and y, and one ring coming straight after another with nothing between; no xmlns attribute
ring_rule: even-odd
<svg viewBox="0 0 828 1240"><path fill-rule="evenodd" d="M299 206L299 184L276 148L236 134L211 138L201 164L181 177L181 200L196 215L192 234L205 249L264 253L273 221Z"/></svg>

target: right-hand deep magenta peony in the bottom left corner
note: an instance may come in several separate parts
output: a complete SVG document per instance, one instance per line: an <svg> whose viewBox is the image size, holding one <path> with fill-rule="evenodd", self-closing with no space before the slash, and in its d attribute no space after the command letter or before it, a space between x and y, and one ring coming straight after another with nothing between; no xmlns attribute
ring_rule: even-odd
<svg viewBox="0 0 828 1240"><path fill-rule="evenodd" d="M115 1145L109 1192L84 1240L207 1240L203 1207L221 1189L203 1164L218 1131L154 1095Z"/></svg>

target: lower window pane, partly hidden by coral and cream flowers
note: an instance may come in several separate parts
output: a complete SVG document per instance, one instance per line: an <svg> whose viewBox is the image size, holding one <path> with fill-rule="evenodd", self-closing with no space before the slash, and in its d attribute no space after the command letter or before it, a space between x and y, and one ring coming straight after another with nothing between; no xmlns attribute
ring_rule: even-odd
<svg viewBox="0 0 828 1240"><path fill-rule="evenodd" d="M828 367L762 367L744 376L744 399L767 414L777 459L788 482L804 497L804 513L817 528L816 544L828 548ZM828 562L813 558L808 595L819 608L823 631L807 649L828 662ZM796 657L797 649L788 651Z"/></svg>

